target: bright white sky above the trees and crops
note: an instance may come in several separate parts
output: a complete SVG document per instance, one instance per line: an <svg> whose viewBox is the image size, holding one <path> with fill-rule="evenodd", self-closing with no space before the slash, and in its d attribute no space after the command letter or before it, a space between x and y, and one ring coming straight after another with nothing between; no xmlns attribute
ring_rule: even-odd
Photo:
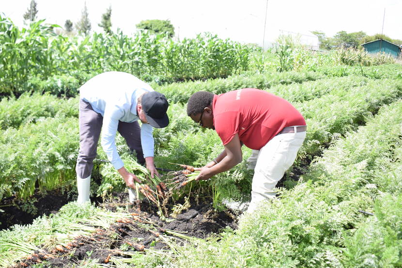
<svg viewBox="0 0 402 268"><path fill-rule="evenodd" d="M31 0L0 0L0 14L22 27ZM275 41L278 32L321 31L332 37L339 31L383 33L402 39L402 0L36 0L38 18L64 26L81 17L86 2L92 30L111 6L112 30L136 31L144 19L169 19L176 38L212 32L220 38L262 45Z"/></svg>

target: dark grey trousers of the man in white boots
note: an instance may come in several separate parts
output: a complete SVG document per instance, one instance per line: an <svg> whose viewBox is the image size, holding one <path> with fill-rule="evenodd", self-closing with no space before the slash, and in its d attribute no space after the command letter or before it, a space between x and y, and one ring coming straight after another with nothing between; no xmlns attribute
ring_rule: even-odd
<svg viewBox="0 0 402 268"><path fill-rule="evenodd" d="M96 157L103 116L92 109L91 104L79 102L79 151L76 172L79 178L87 178L93 169L93 159ZM136 151L137 161L145 163L141 147L141 128L137 121L126 123L119 121L117 131L123 136L131 151Z"/></svg>

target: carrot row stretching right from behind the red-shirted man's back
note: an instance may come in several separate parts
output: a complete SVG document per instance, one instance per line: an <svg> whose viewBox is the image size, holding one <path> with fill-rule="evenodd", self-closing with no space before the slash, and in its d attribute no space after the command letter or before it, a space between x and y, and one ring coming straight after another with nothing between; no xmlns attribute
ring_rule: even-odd
<svg viewBox="0 0 402 268"><path fill-rule="evenodd" d="M322 144L363 125L372 114L402 94L402 84L394 80L371 81L365 86L333 91L295 107L306 119L308 131L299 158L316 155Z"/></svg>

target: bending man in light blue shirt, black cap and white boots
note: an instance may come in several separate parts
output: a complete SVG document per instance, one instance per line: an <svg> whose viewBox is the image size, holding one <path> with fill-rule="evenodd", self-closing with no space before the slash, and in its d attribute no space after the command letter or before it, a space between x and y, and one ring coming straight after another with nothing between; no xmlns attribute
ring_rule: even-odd
<svg viewBox="0 0 402 268"><path fill-rule="evenodd" d="M124 168L116 148L117 131L122 134L130 149L135 148L140 140L147 169L152 177L159 175L154 164L152 132L153 127L162 128L169 124L166 113L169 104L166 97L155 92L147 83L124 72L97 75L83 84L79 91L77 202L89 201L93 159L96 157L99 137L108 160L122 175L125 184L134 189L134 180L140 182L136 175ZM140 130L137 120L142 122Z"/></svg>

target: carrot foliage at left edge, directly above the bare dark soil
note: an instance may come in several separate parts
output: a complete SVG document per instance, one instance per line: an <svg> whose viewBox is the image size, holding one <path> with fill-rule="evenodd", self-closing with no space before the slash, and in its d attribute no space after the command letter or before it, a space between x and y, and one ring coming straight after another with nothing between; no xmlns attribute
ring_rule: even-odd
<svg viewBox="0 0 402 268"><path fill-rule="evenodd" d="M77 118L44 118L36 124L1 131L0 198L26 199L40 190L75 183Z"/></svg>

